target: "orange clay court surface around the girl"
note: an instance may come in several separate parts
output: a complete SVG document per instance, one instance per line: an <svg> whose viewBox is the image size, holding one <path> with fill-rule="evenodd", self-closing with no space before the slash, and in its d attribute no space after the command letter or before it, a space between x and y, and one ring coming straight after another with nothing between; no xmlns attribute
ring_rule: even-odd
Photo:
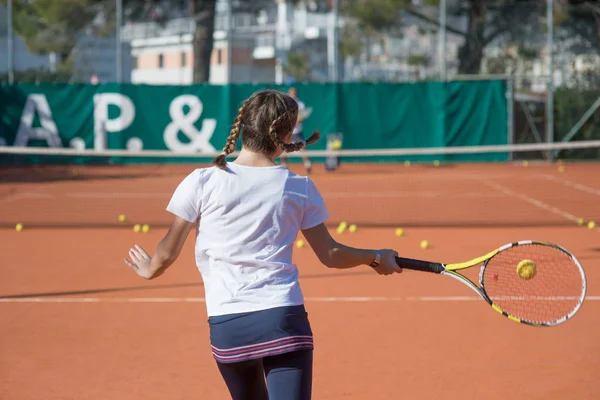
<svg viewBox="0 0 600 400"><path fill-rule="evenodd" d="M165 234L166 202L192 167L78 168L0 173L0 399L227 399L193 238L160 279L123 263L133 244L152 251ZM310 247L296 249L315 335L314 399L598 398L600 230L573 219L600 225L600 165L316 169L345 244L456 262L547 240L578 256L589 297L573 320L532 328L447 277L328 270ZM338 236L341 220L358 231ZM151 231L136 234L134 223Z"/></svg>

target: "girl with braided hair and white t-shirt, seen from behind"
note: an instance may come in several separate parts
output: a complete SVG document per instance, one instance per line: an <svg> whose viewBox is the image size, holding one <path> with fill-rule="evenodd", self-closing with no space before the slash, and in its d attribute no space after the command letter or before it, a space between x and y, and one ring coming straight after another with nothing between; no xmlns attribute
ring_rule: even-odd
<svg viewBox="0 0 600 400"><path fill-rule="evenodd" d="M167 206L175 219L154 255L136 245L125 259L138 275L156 278L197 223L212 352L234 400L311 398L313 338L292 264L299 231L327 267L402 271L395 251L336 242L314 183L274 163L318 140L315 132L306 143L290 143L297 118L298 103L285 93L263 90L246 100L214 166L196 169L175 190ZM226 163L242 128L242 150Z"/></svg>

